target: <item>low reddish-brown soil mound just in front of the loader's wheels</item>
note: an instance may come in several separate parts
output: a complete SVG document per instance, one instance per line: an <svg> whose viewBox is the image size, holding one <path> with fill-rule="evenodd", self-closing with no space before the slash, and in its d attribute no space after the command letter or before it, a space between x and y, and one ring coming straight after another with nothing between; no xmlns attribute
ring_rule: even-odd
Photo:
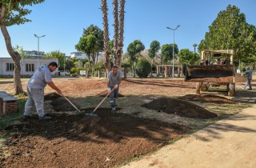
<svg viewBox="0 0 256 168"><path fill-rule="evenodd" d="M178 99L188 100L193 102L213 102L216 104L236 104L236 102L215 95L197 95L197 94L187 94L185 96L179 97Z"/></svg>

